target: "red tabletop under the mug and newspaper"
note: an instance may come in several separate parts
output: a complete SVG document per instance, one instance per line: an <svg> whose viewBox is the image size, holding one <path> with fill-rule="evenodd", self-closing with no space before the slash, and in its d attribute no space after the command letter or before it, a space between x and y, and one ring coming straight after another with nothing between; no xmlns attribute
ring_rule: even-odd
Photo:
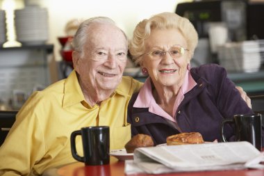
<svg viewBox="0 0 264 176"><path fill-rule="evenodd" d="M102 166L85 166L84 163L76 162L63 166L57 170L61 176L124 176L124 161L118 161L115 157L110 157L110 164ZM155 176L260 176L264 175L264 170L219 170L219 171L202 171L188 173L170 173ZM135 175L130 175L135 176ZM136 174L136 176L151 176L149 174ZM152 175L154 176L154 175Z"/></svg>

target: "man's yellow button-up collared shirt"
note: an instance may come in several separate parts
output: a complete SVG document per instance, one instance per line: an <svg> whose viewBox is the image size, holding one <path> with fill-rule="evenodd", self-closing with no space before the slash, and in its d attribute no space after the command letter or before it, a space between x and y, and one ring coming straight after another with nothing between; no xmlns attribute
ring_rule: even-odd
<svg viewBox="0 0 264 176"><path fill-rule="evenodd" d="M33 93L0 147L0 175L38 175L47 168L74 162L69 138L82 127L109 126L110 150L124 148L131 138L127 107L141 86L139 81L123 77L111 97L100 106L90 106L73 71L67 79ZM76 148L81 155L81 137L76 138Z"/></svg>

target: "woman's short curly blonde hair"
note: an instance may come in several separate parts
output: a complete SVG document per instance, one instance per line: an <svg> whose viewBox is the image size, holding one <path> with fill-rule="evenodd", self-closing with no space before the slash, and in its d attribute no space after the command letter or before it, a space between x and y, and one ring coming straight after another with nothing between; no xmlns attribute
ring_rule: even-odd
<svg viewBox="0 0 264 176"><path fill-rule="evenodd" d="M197 47L198 34L190 21L176 13L160 13L149 19L144 19L138 23L133 32L133 38L129 42L129 52L135 63L142 63L140 55L145 52L145 40L149 37L153 29L178 29L187 41L187 49L192 58L195 47Z"/></svg>

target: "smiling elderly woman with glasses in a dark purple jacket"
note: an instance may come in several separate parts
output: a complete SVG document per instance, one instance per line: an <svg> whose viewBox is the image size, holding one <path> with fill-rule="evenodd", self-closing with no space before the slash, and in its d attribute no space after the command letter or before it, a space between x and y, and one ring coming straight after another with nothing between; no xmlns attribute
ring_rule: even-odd
<svg viewBox="0 0 264 176"><path fill-rule="evenodd" d="M197 41L194 26L175 13L154 15L135 27L129 51L149 78L129 102L132 135L148 134L157 145L172 134L197 131L215 141L224 118L253 113L223 67L190 68ZM232 127L225 131L232 141Z"/></svg>

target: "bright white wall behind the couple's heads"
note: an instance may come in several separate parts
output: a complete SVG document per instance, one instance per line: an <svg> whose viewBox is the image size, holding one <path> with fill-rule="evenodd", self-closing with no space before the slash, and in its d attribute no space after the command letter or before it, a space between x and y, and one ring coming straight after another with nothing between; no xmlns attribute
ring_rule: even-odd
<svg viewBox="0 0 264 176"><path fill-rule="evenodd" d="M0 0L0 3L1 1L15 1L19 4L16 8L24 6L22 0ZM58 54L60 44L57 38L66 35L65 25L71 19L107 16L115 20L131 38L135 25L142 19L165 11L174 12L176 4L181 1L184 0L26 0L27 3L38 4L49 11L48 42L55 46L56 61L61 59Z"/></svg>

